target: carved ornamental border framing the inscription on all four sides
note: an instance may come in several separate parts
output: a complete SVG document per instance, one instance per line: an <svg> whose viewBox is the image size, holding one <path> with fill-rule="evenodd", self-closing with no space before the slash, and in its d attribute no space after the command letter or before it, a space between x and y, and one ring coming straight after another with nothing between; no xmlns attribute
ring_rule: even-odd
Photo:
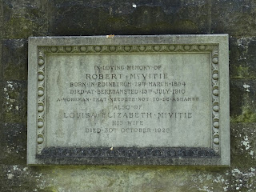
<svg viewBox="0 0 256 192"><path fill-rule="evenodd" d="M212 90L212 148L118 148L112 153L110 149L105 148L46 148L45 131L46 131L46 54L130 54L130 53L209 53L211 63L211 90ZM212 158L219 157L220 141L219 141L219 81L218 81L218 45L131 45L131 46L39 46L38 47L38 127L37 127L37 157L51 157L59 158L73 157L73 158L94 158L94 157L110 157L113 154L124 154L125 157L140 158L138 151L146 154L145 157L190 157L190 158ZM103 151L98 155L94 155L92 151ZM85 151L80 153L78 151ZM151 151L151 152L150 152ZM158 151L158 152L156 152ZM110 152L110 153L109 153ZM152 156L152 153L156 154ZM108 156L107 154L110 154ZM174 155L172 155L174 154ZM186 155L185 155L186 154ZM137 156L136 156L137 155Z"/></svg>

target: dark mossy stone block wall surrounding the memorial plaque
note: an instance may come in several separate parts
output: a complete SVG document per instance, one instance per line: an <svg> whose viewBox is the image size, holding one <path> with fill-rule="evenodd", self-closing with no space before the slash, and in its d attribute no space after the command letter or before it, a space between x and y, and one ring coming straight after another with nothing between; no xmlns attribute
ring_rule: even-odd
<svg viewBox="0 0 256 192"><path fill-rule="evenodd" d="M255 191L255 0L0 0L0 191ZM26 166L27 38L229 34L231 166Z"/></svg>

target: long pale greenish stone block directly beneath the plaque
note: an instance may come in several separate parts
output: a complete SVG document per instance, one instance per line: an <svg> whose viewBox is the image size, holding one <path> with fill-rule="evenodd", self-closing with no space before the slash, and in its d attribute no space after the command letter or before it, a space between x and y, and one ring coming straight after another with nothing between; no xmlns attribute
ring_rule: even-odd
<svg viewBox="0 0 256 192"><path fill-rule="evenodd" d="M228 191L230 174L226 169L195 169L189 166L96 166L54 167L46 175L46 186L61 191ZM63 174L63 173L66 174ZM51 176L50 176L51 175ZM69 177L73 175L73 177ZM50 179L54 178L54 181ZM47 179L49 178L49 179ZM69 179L71 184L66 183ZM97 181L97 182L95 182ZM130 182L133 181L133 182ZM74 183L81 183L79 186Z"/></svg>

